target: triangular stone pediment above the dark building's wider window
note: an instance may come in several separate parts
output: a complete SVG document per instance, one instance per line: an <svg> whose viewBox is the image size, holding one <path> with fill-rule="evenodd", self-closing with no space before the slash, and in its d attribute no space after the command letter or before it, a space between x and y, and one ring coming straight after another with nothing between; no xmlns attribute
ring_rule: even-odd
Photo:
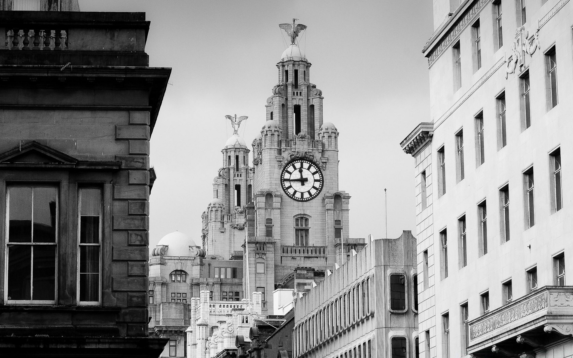
<svg viewBox="0 0 573 358"><path fill-rule="evenodd" d="M77 159L32 140L0 153L0 163L76 164Z"/></svg>

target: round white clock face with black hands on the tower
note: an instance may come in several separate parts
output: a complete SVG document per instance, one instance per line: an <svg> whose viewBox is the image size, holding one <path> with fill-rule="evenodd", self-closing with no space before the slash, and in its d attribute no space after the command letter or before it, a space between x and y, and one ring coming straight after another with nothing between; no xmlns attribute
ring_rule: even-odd
<svg viewBox="0 0 573 358"><path fill-rule="evenodd" d="M282 190L289 198L299 202L316 198L323 184L322 171L308 159L295 159L286 164L281 172Z"/></svg>

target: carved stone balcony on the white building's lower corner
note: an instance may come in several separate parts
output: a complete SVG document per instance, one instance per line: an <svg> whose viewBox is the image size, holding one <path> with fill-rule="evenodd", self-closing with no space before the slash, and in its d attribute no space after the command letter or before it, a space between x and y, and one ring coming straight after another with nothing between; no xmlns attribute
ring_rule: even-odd
<svg viewBox="0 0 573 358"><path fill-rule="evenodd" d="M573 335L573 286L545 286L469 322L468 353L529 355Z"/></svg>

